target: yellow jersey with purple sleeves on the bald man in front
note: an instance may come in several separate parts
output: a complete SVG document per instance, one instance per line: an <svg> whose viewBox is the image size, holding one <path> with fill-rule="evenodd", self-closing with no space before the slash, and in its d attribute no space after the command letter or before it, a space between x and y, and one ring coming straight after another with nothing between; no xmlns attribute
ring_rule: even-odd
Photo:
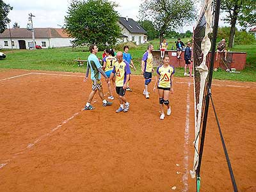
<svg viewBox="0 0 256 192"><path fill-rule="evenodd" d="M124 86L127 74L131 74L129 63L125 60L121 63L116 61L112 72L116 75L116 86Z"/></svg>

